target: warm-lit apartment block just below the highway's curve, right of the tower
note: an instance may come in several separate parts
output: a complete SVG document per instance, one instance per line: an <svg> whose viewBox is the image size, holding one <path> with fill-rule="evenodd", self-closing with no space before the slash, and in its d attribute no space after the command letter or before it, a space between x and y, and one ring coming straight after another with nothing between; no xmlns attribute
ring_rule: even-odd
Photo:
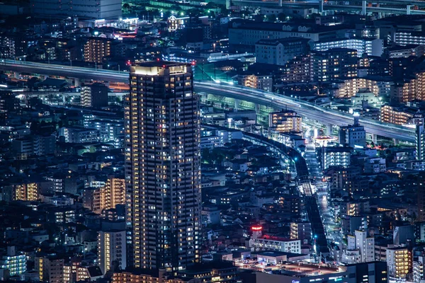
<svg viewBox="0 0 425 283"><path fill-rule="evenodd" d="M278 132L302 132L302 117L293 110L268 113L268 129Z"/></svg>

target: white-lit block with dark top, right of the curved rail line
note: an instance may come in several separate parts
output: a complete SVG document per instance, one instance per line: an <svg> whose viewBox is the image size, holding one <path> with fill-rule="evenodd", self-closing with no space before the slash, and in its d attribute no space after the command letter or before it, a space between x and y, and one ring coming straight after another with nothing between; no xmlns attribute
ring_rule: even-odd
<svg viewBox="0 0 425 283"><path fill-rule="evenodd" d="M323 146L317 149L321 161L322 170L329 167L348 167L350 165L350 156L352 147L347 146Z"/></svg>

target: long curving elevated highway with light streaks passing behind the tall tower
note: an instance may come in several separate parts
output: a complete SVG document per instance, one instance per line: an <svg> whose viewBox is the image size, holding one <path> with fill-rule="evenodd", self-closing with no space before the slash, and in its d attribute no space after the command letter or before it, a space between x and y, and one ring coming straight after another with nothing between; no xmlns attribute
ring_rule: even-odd
<svg viewBox="0 0 425 283"><path fill-rule="evenodd" d="M130 74L125 71L94 70L54 64L15 62L14 60L1 60L0 70L122 83L128 83L130 78ZM267 105L277 109L293 109L300 115L322 122L324 125L344 126L353 123L353 118L346 112L323 108L313 103L307 103L302 100L296 100L288 96L261 91L255 88L233 86L229 83L217 83L214 81L195 81L193 83L193 88L197 93L208 93L216 96L246 100L251 103ZM368 118L361 118L360 122L361 125L365 127L366 132L370 134L378 134L382 137L389 137L402 141L415 141L415 131L412 128L383 123Z"/></svg>

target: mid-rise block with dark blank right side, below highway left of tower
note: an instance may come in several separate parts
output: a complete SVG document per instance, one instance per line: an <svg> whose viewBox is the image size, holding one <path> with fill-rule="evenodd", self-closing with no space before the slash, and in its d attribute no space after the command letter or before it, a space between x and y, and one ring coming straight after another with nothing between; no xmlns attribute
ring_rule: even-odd
<svg viewBox="0 0 425 283"><path fill-rule="evenodd" d="M108 106L108 86L103 83L81 86L81 106L91 108Z"/></svg>

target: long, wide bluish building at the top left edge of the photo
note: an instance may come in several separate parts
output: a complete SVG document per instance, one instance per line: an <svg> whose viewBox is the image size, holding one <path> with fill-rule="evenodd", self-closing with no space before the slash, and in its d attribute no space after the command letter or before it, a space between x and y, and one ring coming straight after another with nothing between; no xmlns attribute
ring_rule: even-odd
<svg viewBox="0 0 425 283"><path fill-rule="evenodd" d="M30 0L36 16L77 16L115 19L122 15L121 0Z"/></svg>

